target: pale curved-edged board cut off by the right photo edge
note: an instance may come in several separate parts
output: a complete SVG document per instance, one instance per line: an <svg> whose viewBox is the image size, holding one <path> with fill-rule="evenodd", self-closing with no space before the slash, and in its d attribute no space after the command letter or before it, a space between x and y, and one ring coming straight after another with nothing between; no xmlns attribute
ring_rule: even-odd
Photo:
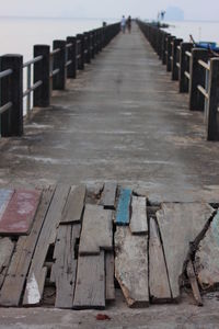
<svg viewBox="0 0 219 329"><path fill-rule="evenodd" d="M219 212L214 217L195 256L195 271L205 290L219 284Z"/></svg>

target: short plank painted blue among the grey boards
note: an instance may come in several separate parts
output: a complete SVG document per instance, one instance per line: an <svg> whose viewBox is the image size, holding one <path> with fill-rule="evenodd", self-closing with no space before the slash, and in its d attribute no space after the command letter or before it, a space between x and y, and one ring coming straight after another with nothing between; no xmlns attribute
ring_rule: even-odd
<svg viewBox="0 0 219 329"><path fill-rule="evenodd" d="M129 225L130 198L131 198L131 190L120 189L120 195L119 195L117 213L116 213L117 225Z"/></svg>

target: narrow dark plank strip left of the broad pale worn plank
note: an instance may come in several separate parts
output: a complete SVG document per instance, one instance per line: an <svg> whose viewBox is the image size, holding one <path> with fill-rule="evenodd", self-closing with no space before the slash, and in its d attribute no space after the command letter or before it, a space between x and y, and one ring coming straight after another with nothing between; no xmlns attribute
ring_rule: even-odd
<svg viewBox="0 0 219 329"><path fill-rule="evenodd" d="M115 261L113 252L105 252L105 269L106 269L106 300L115 300Z"/></svg>

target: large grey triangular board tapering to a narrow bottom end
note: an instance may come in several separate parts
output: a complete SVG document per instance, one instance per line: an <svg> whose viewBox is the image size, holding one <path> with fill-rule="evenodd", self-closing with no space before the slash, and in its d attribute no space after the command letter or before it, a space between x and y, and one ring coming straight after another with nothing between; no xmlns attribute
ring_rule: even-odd
<svg viewBox="0 0 219 329"><path fill-rule="evenodd" d="M164 203L157 212L173 298L180 297L178 281L189 242L195 240L212 213L205 203Z"/></svg>

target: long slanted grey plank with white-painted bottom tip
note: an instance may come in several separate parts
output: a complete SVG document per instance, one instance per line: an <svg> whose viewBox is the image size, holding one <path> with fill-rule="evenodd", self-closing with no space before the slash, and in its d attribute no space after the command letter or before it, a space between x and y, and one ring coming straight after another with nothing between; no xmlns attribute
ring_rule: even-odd
<svg viewBox="0 0 219 329"><path fill-rule="evenodd" d="M59 184L56 188L32 260L26 281L23 305L38 305L42 300L47 272L47 269L44 266L44 262L46 260L49 245L55 243L57 226L61 220L61 214L68 198L69 190L70 186L65 184Z"/></svg>

